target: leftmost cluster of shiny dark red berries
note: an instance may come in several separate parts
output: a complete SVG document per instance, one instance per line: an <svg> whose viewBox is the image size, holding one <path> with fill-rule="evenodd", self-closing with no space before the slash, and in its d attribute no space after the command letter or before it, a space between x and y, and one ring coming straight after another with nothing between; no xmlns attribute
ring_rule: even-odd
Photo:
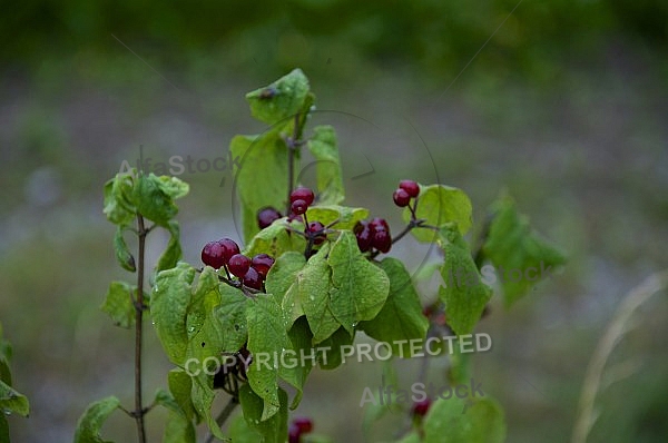
<svg viewBox="0 0 668 443"><path fill-rule="evenodd" d="M207 243L202 249L202 262L215 269L224 268L227 275L237 277L245 286L262 291L262 285L274 258L258 254L248 258L240 254L239 246L230 238Z"/></svg>

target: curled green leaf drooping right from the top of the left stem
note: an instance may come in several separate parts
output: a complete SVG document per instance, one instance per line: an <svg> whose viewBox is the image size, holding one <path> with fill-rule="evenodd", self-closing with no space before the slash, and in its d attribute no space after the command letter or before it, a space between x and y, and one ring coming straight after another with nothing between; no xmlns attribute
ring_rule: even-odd
<svg viewBox="0 0 668 443"><path fill-rule="evenodd" d="M137 206L137 211L160 226L167 226L178 213L171 196L164 189L164 180L153 173L140 174L132 189L132 201Z"/></svg>

